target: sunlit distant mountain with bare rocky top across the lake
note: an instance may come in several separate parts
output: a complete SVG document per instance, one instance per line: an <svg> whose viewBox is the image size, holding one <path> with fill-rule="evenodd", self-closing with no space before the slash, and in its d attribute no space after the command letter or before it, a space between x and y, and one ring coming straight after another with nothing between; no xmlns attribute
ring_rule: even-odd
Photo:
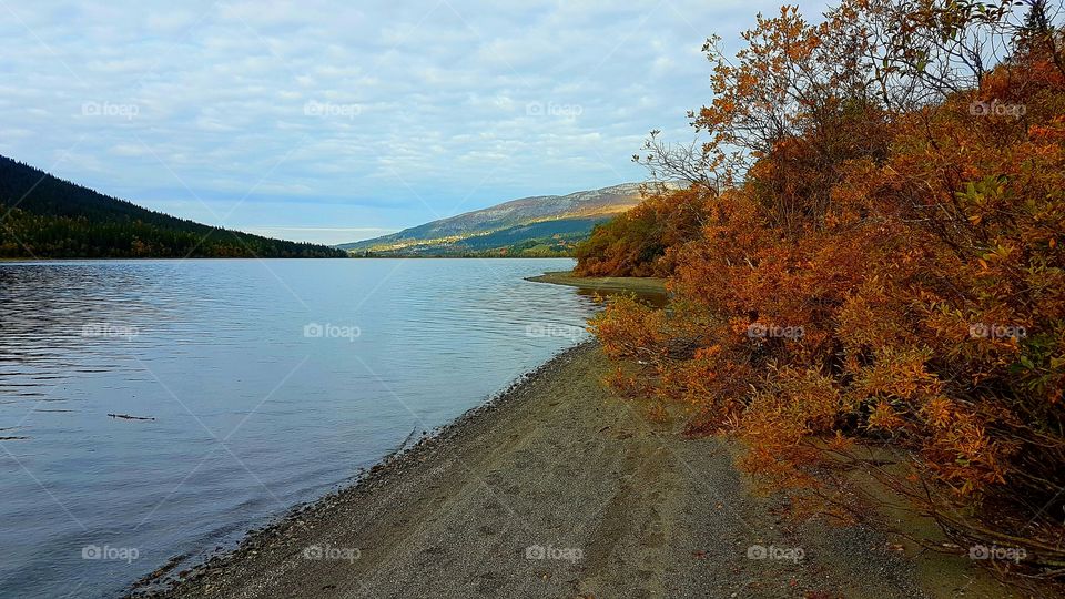
<svg viewBox="0 0 1065 599"><path fill-rule="evenodd" d="M538 195L511 200L433 221L392 235L338 247L354 253L462 255L507 253L566 254L591 227L640 202L640 184L625 183L568 195Z"/></svg>

